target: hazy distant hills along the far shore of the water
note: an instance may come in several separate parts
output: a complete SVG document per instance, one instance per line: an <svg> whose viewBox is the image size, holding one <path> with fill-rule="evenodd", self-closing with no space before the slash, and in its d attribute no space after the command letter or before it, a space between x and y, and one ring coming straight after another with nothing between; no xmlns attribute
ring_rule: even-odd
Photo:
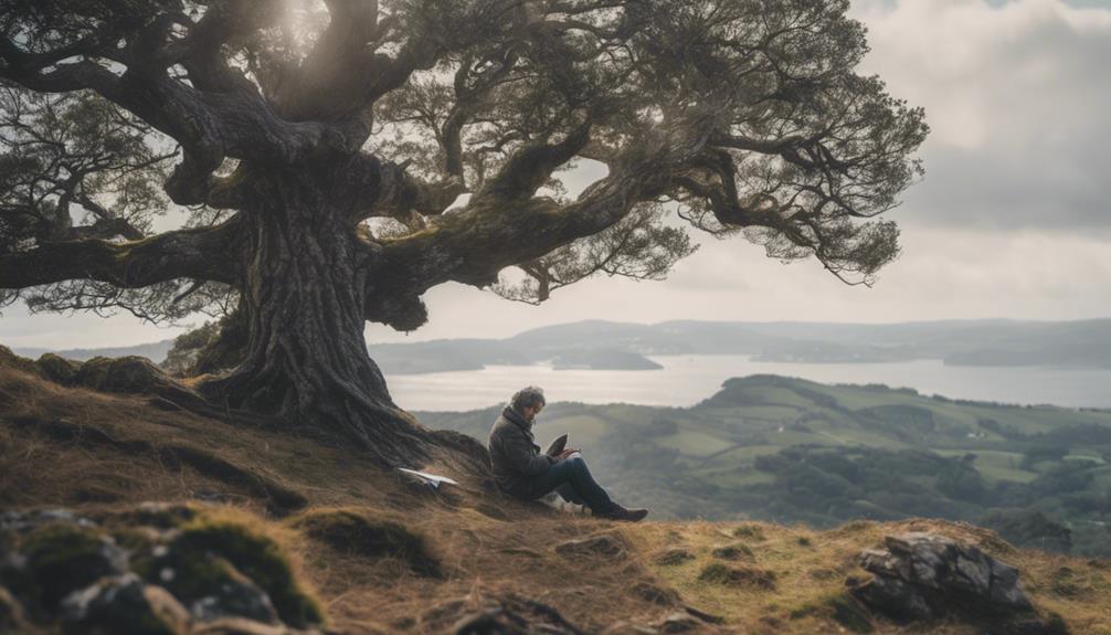
<svg viewBox="0 0 1111 635"><path fill-rule="evenodd" d="M161 362L172 340L111 349L52 351L63 357L142 355ZM1061 365L1111 369L1111 320L974 320L897 324L699 322L633 324L589 320L506 339L370 344L386 373L473 371L551 363L557 369L652 370L648 355L739 354L758 362L882 363L943 360L950 365ZM16 349L37 357L47 349Z"/></svg>

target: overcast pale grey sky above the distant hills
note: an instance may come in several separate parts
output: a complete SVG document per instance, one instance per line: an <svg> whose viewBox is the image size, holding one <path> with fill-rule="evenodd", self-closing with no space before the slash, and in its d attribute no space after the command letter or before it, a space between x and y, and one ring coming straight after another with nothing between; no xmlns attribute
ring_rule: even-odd
<svg viewBox="0 0 1111 635"><path fill-rule="evenodd" d="M584 319L892 322L1111 316L1111 0L854 0L864 71L922 105L925 179L889 218L903 255L872 289L813 261L764 258L743 239L702 240L664 282L597 279L541 306L460 285L427 296L430 322L372 342L490 337ZM162 340L126 315L0 319L9 346Z"/></svg>

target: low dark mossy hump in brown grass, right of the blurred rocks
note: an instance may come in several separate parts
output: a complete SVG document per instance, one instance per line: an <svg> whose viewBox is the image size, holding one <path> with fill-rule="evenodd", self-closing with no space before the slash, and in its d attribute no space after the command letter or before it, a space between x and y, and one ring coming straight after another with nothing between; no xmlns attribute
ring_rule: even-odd
<svg viewBox="0 0 1111 635"><path fill-rule="evenodd" d="M442 575L424 536L401 523L370 518L350 510L322 510L297 518L293 526L310 538L348 555L398 557L419 575Z"/></svg>

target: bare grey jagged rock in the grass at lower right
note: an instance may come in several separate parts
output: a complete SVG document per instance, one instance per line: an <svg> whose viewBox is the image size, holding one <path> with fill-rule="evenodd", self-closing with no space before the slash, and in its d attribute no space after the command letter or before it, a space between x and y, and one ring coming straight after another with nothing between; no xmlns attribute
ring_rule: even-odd
<svg viewBox="0 0 1111 635"><path fill-rule="evenodd" d="M884 550L864 550L861 566L873 574L850 578L854 597L898 622L959 618L991 624L992 632L1050 634L1034 613L1019 571L945 536L912 532L887 536Z"/></svg>

